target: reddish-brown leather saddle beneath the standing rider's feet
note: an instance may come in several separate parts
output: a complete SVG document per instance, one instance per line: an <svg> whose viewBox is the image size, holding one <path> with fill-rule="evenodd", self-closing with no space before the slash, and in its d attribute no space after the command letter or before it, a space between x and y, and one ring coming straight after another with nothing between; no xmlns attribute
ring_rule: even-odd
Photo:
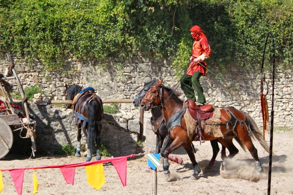
<svg viewBox="0 0 293 195"><path fill-rule="evenodd" d="M214 107L212 104L197 106L194 101L188 101L188 111L193 119L200 121L212 118L214 115Z"/></svg>

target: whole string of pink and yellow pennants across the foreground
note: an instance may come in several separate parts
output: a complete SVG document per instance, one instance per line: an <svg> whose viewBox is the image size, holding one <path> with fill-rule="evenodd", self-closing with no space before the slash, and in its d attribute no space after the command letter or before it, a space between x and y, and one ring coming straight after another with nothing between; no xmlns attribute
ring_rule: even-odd
<svg viewBox="0 0 293 195"><path fill-rule="evenodd" d="M33 194L37 193L39 184L38 179L35 175L36 169L44 169L44 168L59 168L62 172L62 175L68 184L72 184L74 182L74 174L76 167L84 166L86 169L86 176L88 179L88 183L95 189L100 189L105 183L105 174L103 169L103 163L111 162L122 182L123 186L126 186L126 167L127 167L127 158L134 157L135 154L129 156L120 156L115 158L107 158L99 161L89 161L82 163L72 163L66 165L49 165L42 167L30 167L30 168L13 168L13 169L0 169L0 193L4 189L4 184L2 180L1 171L9 171L12 177L14 186L16 188L17 194L21 195L22 187L23 187L23 175L24 170L33 169Z"/></svg>

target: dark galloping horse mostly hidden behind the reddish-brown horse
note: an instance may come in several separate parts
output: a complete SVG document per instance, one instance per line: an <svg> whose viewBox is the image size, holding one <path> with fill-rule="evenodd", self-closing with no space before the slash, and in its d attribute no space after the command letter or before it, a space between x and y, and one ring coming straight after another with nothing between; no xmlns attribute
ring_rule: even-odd
<svg viewBox="0 0 293 195"><path fill-rule="evenodd" d="M156 81L156 79L151 80L149 82L146 82L144 84L144 87L142 88L142 90L135 96L135 98L133 99L132 103L134 106L139 106L140 102L142 101L142 98L144 98L145 94L147 93L147 91L149 90L149 88L154 84L154 82ZM180 106L177 107L179 110L182 109L183 107L183 102L180 102ZM154 133L156 134L156 153L160 153L161 152L161 148L163 146L163 142L166 138L166 136L168 136L169 132L166 128L166 121L164 120L162 114L161 114L161 107L154 107L151 108L151 124L154 127ZM177 111L179 111L177 110ZM245 149L243 143L241 141L239 141L239 139L236 139L236 141L240 144L241 148ZM208 168L212 168L214 166L214 163L216 161L216 157L220 151L219 149L219 145L218 139L214 139L214 140L210 140L211 142L211 146L212 146L212 150L213 150L213 156L212 159L209 161L208 164ZM221 142L219 142L221 143ZM236 147L233 147L232 145L233 142L229 143L231 145L230 148L233 148L233 151L230 151L230 157L235 156L238 153L238 149ZM192 144L192 142L186 144L183 146L183 148L185 149L185 151L187 152L188 156L190 157L190 159L194 159L195 161L195 157L194 157L194 146ZM221 158L222 160L224 158L226 158L226 147L222 145L222 151L221 151ZM170 159L169 159L170 160ZM193 160L191 160L193 161Z"/></svg>

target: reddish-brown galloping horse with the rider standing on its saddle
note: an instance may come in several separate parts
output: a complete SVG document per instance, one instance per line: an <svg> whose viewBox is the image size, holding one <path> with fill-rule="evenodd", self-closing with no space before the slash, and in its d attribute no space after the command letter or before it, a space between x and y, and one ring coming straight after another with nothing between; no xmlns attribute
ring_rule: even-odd
<svg viewBox="0 0 293 195"><path fill-rule="evenodd" d="M142 99L139 107L140 109L147 111L150 108L162 106L163 109L161 113L162 115L164 115L166 121L168 121L171 116L173 116L177 112L177 109L174 108L181 105L182 101L178 98L178 96L176 96L176 94L174 94L173 90L167 87L163 87L161 86L161 84L162 81L156 81L153 86L150 87L150 89ZM161 150L161 156L164 158L163 170L164 174L166 174L166 179L170 176L168 155L172 151L178 149L180 146L183 146L191 141L200 141L201 137L206 141L219 139L221 144L226 146L228 150L231 146L227 144L227 142L229 143L235 136L238 137L240 141L243 142L243 144L246 146L248 151L251 153L251 156L255 160L257 171L262 172L263 169L258 158L257 149L253 145L251 136L253 137L253 139L259 141L261 146L267 152L269 152L269 146L263 139L262 133L258 130L258 127L254 120L247 113L243 113L242 111L239 111L233 107L224 107L220 110L220 112L221 123L218 125L220 126L222 134L224 135L224 137L228 134L233 134L233 136L229 136L228 139L223 139L222 137L214 137L207 134L206 132L203 132L202 136L194 133L192 138L190 138L186 131L187 126L184 117L181 119L181 124L171 127L171 129L169 130L169 136L166 137L163 148ZM222 166L226 166L225 159L222 162ZM192 175L192 179L197 178L198 174L201 172L201 169L199 168L196 161L193 162L193 168L194 172Z"/></svg>

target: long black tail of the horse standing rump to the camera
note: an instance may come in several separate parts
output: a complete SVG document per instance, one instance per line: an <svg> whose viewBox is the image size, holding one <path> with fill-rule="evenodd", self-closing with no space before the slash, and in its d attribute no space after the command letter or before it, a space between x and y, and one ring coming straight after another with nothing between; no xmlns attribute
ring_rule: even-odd
<svg viewBox="0 0 293 195"><path fill-rule="evenodd" d="M98 106L95 103L95 100L92 100L88 103L88 148L91 150L93 155L93 143L95 141L95 127L96 127L96 116L97 116Z"/></svg>

